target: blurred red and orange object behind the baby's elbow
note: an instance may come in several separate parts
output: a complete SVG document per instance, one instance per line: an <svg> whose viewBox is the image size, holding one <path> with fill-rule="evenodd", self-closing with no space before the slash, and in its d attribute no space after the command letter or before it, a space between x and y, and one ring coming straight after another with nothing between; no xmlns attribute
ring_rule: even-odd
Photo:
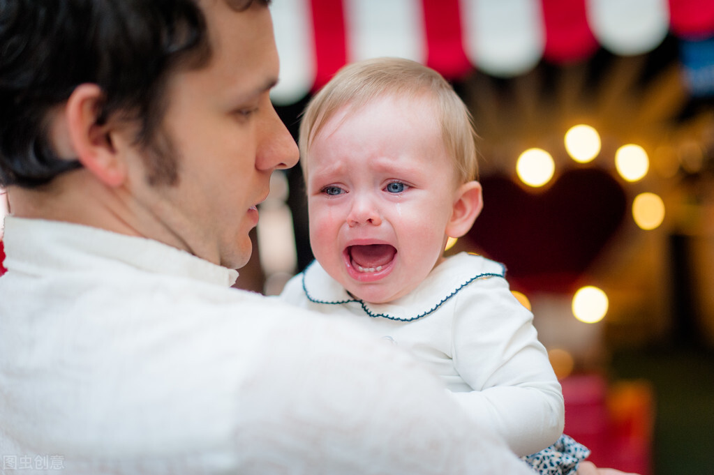
<svg viewBox="0 0 714 475"><path fill-rule="evenodd" d="M651 475L654 392L643 380L608 384L600 374L563 379L565 434L600 467Z"/></svg>

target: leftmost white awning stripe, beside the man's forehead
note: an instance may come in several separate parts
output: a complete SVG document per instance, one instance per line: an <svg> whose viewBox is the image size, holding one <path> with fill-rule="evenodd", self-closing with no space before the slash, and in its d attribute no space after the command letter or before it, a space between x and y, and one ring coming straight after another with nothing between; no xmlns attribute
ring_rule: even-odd
<svg viewBox="0 0 714 475"><path fill-rule="evenodd" d="M273 0L273 29L280 56L280 81L271 91L277 105L303 98L315 83L316 59L309 0Z"/></svg>

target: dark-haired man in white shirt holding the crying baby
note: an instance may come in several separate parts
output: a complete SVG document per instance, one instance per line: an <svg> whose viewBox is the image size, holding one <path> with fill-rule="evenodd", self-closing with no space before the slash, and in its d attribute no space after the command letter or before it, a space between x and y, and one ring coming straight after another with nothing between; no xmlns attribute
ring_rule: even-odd
<svg viewBox="0 0 714 475"><path fill-rule="evenodd" d="M430 374L230 289L273 170L264 1L0 0L0 463L521 474Z"/></svg>

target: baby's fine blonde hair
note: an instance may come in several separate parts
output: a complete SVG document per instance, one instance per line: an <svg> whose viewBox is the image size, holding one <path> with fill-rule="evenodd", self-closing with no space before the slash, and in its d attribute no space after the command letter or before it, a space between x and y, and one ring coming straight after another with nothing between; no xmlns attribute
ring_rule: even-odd
<svg viewBox="0 0 714 475"><path fill-rule="evenodd" d="M373 58L348 64L311 99L300 124L303 174L307 177L306 158L313 139L335 113L348 104L355 111L386 95L431 96L458 178L463 183L476 179L476 132L466 104L441 74L403 58Z"/></svg>

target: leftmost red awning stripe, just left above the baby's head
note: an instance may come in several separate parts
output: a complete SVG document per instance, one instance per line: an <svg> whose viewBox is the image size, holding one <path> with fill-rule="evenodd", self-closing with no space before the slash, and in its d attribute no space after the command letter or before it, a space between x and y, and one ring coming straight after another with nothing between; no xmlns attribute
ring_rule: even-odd
<svg viewBox="0 0 714 475"><path fill-rule="evenodd" d="M316 77L313 91L347 63L347 31L342 0L311 0Z"/></svg>

